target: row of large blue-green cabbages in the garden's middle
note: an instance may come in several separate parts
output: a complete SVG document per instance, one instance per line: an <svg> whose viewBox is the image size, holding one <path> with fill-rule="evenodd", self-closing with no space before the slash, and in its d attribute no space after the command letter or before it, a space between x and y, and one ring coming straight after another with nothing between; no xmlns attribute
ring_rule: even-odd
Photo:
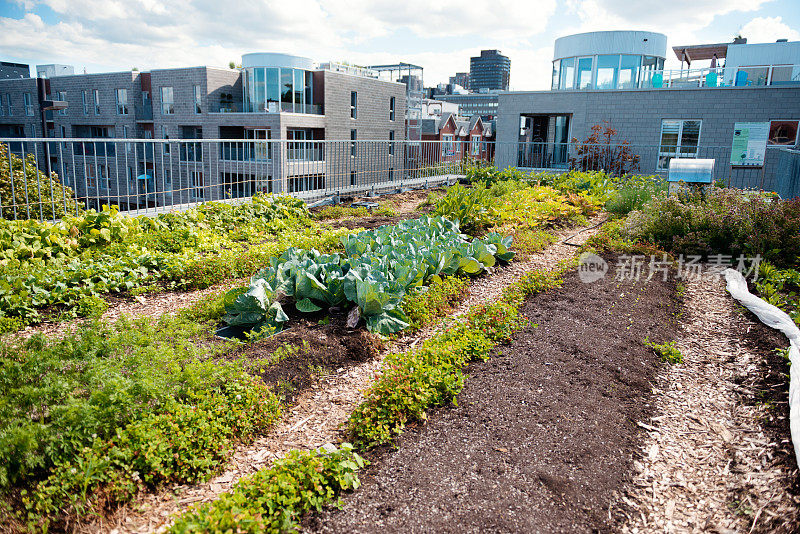
<svg viewBox="0 0 800 534"><path fill-rule="evenodd" d="M247 289L226 296L230 326L269 332L289 320L281 304L287 297L301 313L356 306L352 326L363 318L374 333L406 328L400 303L444 276L475 276L514 257L511 238L489 233L470 239L458 222L421 217L342 238L344 254L290 248L258 272Z"/></svg>

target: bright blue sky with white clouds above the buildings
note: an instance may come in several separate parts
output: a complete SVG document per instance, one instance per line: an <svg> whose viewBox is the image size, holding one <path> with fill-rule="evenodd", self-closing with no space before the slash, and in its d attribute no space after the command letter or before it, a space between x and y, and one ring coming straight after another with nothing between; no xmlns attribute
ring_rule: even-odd
<svg viewBox="0 0 800 534"><path fill-rule="evenodd" d="M76 73L227 67L281 52L413 63L432 86L496 48L511 59L512 90L549 89L553 41L596 30L657 31L669 47L800 40L800 0L0 0L0 60Z"/></svg>

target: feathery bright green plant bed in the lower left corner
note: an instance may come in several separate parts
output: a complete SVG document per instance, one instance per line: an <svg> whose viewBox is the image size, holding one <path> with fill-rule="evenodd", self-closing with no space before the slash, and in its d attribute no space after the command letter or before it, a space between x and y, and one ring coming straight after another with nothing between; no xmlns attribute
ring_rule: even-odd
<svg viewBox="0 0 800 534"><path fill-rule="evenodd" d="M0 521L47 530L205 478L271 426L278 397L208 336L165 315L4 343Z"/></svg>

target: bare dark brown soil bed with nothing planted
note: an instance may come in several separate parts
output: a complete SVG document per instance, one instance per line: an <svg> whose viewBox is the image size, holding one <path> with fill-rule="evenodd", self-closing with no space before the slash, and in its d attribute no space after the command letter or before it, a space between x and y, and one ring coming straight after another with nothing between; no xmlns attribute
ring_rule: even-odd
<svg viewBox="0 0 800 534"><path fill-rule="evenodd" d="M614 525L674 338L674 284L577 274L529 299L533 325L470 366L458 406L376 454L363 486L306 521L320 532L589 532ZM538 325L538 326L536 326Z"/></svg>

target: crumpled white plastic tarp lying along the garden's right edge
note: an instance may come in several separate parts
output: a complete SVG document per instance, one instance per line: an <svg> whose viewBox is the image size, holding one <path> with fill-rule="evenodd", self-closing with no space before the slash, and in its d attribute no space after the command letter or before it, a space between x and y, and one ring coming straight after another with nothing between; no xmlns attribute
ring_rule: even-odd
<svg viewBox="0 0 800 534"><path fill-rule="evenodd" d="M789 428L795 460L800 465L800 329L784 311L750 293L742 273L725 269L724 274L728 292L733 298L756 314L762 323L780 330L789 338Z"/></svg>

